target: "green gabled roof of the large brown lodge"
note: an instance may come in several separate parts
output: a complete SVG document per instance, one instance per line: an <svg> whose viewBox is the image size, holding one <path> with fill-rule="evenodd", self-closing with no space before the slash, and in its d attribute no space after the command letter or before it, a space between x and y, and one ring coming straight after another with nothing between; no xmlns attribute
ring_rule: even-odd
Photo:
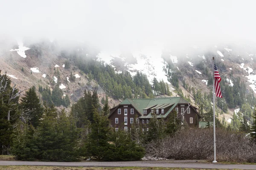
<svg viewBox="0 0 256 170"><path fill-rule="evenodd" d="M180 103L188 103L186 100L182 99L181 97L168 97L168 98L156 98L156 99L125 99L120 105L133 105L137 111L139 111L142 116L140 118L151 118L151 112L147 116L143 116L143 109L150 108L151 106L157 106L157 108L165 108L165 106L172 107L167 111L165 114L157 115L157 118L166 118L168 114L175 108L177 104Z"/></svg>

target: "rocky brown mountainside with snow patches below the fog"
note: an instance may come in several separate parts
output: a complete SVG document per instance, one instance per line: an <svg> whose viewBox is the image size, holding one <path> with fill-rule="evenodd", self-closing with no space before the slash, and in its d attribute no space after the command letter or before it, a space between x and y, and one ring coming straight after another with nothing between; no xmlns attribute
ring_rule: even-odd
<svg viewBox="0 0 256 170"><path fill-rule="evenodd" d="M9 48L9 49L8 49ZM172 96L183 95L200 108L192 89L202 94L210 94L212 91L212 57L222 78L222 85L237 88L238 81L243 82L245 93L252 97L256 93L256 47L247 44L239 45L212 45L207 48L193 46L182 51L167 51L161 48L136 53L111 54L104 51L96 51L86 45L60 45L57 42L41 41L37 43L24 42L1 48L0 70L11 77L13 84L21 90L28 89L32 85L38 87L48 86L51 90L58 86L63 95L70 96L71 103L76 102L83 91L93 91L97 87L99 97L105 97L104 88L98 85L94 79L90 80L88 74L79 70L70 59L70 68L65 68L67 55L63 51L76 51L86 53L96 61L110 64L116 74L128 71L132 76L137 71L146 74L152 83L156 77L159 81L169 83ZM152 50L151 50L152 51ZM71 56L71 53L69 53ZM70 73L76 77L70 81ZM238 80L239 78L239 80ZM177 79L177 80L175 80ZM228 90L221 87L223 93ZM239 93L239 92L237 92ZM238 94L239 96L240 94ZM248 97L248 95L247 95ZM209 98L209 97L208 97ZM233 97L234 98L234 97ZM109 97L111 107L117 105L120 100ZM223 102L229 103L227 95ZM232 99L234 100L234 99ZM247 99L246 99L247 100ZM251 102L253 103L253 102ZM254 106L251 104L251 108ZM230 122L234 111L238 111L239 105L230 106L219 118L225 118ZM219 107L219 111L222 108Z"/></svg>

